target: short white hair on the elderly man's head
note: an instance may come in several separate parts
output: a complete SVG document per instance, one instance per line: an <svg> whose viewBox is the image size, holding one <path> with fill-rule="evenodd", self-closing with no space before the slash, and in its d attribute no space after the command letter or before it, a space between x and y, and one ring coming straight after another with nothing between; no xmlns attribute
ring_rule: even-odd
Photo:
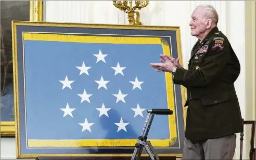
<svg viewBox="0 0 256 160"><path fill-rule="evenodd" d="M205 18L209 18L211 19L214 23L218 23L219 22L219 16L217 14L217 11L215 10L215 8L212 5L198 5L198 7L202 7L204 9L204 17Z"/></svg>

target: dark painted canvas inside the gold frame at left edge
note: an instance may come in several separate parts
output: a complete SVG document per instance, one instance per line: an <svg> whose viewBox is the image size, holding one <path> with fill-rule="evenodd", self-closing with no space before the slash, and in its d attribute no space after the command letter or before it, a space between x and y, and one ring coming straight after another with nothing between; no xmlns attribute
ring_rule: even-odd
<svg viewBox="0 0 256 160"><path fill-rule="evenodd" d="M29 21L29 1L1 1L1 121L14 121L11 21Z"/></svg>

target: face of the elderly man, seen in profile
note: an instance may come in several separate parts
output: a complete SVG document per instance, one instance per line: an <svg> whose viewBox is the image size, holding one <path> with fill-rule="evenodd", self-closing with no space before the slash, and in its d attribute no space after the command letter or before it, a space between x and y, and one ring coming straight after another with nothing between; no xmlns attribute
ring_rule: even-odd
<svg viewBox="0 0 256 160"><path fill-rule="evenodd" d="M200 34L206 32L206 22L203 18L203 8L196 8L191 15L191 21L189 23L191 29L191 35L200 36Z"/></svg>

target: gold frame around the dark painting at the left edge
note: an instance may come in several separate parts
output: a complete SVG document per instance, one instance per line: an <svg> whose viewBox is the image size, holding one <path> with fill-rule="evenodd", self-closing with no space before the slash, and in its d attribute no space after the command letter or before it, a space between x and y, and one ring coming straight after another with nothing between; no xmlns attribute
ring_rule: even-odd
<svg viewBox="0 0 256 160"><path fill-rule="evenodd" d="M29 21L43 21L43 1L28 1L28 2L29 2ZM16 3L19 3L19 2L16 1ZM13 20L16 20L16 19L13 19ZM11 23L11 22L8 22L8 23ZM1 91L2 91L2 88L1 88ZM1 105L2 105L2 102L1 102ZM15 121L1 121L1 137L15 137Z"/></svg>

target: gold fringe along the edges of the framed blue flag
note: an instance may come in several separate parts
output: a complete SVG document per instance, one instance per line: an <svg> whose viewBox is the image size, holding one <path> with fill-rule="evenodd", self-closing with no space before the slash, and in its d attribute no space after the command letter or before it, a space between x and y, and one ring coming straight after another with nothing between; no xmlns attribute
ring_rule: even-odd
<svg viewBox="0 0 256 160"><path fill-rule="evenodd" d="M23 33L24 40L30 41L56 41L78 43L110 43L110 44L159 44L162 45L164 55L171 56L168 42L159 37L111 37L111 36L82 36L69 34ZM169 139L148 139L153 146L167 147L176 143L176 121L172 75L165 73L167 87L168 109L173 111L169 117ZM161 129L161 128L159 128ZM137 139L102 139L102 140L35 140L29 139L29 147L86 147L86 146L134 146Z"/></svg>

